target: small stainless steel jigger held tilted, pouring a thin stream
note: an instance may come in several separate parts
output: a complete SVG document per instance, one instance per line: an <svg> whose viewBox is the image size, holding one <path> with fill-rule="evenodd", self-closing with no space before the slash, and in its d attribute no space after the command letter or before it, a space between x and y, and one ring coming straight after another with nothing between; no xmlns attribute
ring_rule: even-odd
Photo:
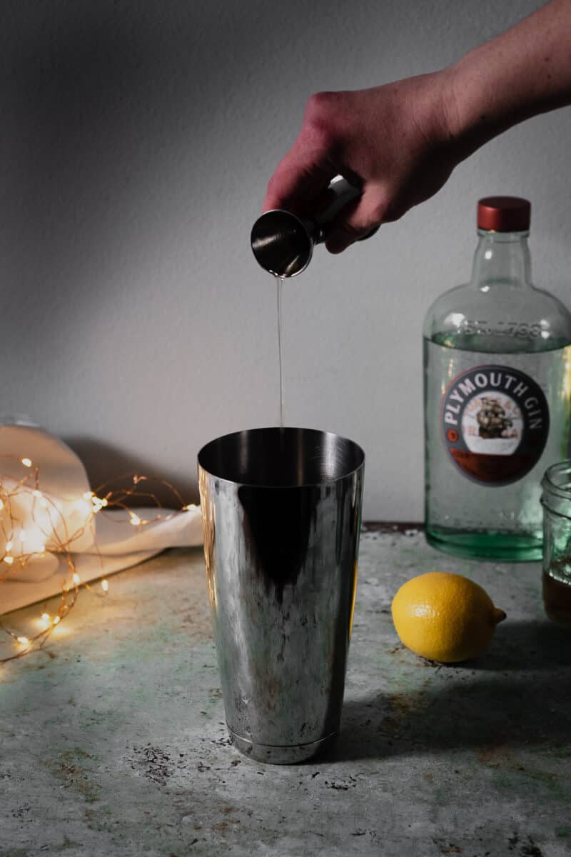
<svg viewBox="0 0 571 857"><path fill-rule="evenodd" d="M313 247L327 237L331 221L342 207L357 199L361 191L347 179L336 176L327 189L331 202L315 218L301 219L283 208L259 217L252 227L253 255L265 271L276 277L295 277L309 265ZM370 237L376 229L368 232ZM362 240L362 239L361 239Z"/></svg>

